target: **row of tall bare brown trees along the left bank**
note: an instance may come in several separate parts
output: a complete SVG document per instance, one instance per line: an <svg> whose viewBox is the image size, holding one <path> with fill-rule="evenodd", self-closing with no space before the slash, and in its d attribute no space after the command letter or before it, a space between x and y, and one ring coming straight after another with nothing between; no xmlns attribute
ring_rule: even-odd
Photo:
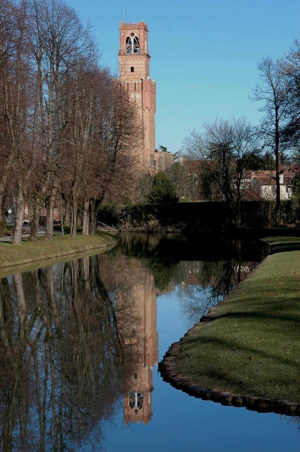
<svg viewBox="0 0 300 452"><path fill-rule="evenodd" d="M83 234L95 232L104 197L134 194L141 122L98 56L89 24L63 1L0 0L0 224L6 227L5 195L13 193L14 243L26 203L29 240L37 240L43 204L52 240L58 199L65 222L72 210L75 236L79 211Z"/></svg>

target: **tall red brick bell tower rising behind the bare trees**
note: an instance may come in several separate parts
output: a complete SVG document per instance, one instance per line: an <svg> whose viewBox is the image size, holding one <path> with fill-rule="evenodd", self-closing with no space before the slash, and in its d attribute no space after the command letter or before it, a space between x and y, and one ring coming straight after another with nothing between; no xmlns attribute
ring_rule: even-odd
<svg viewBox="0 0 300 452"><path fill-rule="evenodd" d="M144 22L121 22L119 30L120 83L134 100L143 124L143 143L138 152L141 171L148 172L151 170L151 156L155 153L156 112L156 83L149 76L148 27Z"/></svg>

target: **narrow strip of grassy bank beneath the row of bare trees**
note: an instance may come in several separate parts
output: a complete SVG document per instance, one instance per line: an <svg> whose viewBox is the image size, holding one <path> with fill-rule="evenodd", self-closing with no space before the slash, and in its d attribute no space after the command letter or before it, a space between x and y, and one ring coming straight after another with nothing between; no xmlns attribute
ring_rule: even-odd
<svg viewBox="0 0 300 452"><path fill-rule="evenodd" d="M91 236L55 236L53 241L46 242L43 238L37 242L22 241L21 245L0 242L0 274L11 267L34 264L49 259L57 259L77 253L113 246L117 239L111 234L101 232Z"/></svg>

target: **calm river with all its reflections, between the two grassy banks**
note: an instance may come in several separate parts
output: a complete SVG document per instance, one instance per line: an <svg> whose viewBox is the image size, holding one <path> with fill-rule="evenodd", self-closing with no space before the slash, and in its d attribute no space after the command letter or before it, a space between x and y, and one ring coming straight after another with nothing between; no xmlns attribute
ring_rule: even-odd
<svg viewBox="0 0 300 452"><path fill-rule="evenodd" d="M263 254L254 242L128 235L2 278L1 450L298 451L299 418L202 401L158 373Z"/></svg>

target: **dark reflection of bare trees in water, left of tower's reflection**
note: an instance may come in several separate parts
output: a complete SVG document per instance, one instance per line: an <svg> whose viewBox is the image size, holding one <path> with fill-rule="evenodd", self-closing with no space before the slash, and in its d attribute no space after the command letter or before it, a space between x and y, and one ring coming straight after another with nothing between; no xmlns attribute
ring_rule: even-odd
<svg viewBox="0 0 300 452"><path fill-rule="evenodd" d="M99 439L121 394L114 307L91 258L1 280L3 450Z"/></svg>

